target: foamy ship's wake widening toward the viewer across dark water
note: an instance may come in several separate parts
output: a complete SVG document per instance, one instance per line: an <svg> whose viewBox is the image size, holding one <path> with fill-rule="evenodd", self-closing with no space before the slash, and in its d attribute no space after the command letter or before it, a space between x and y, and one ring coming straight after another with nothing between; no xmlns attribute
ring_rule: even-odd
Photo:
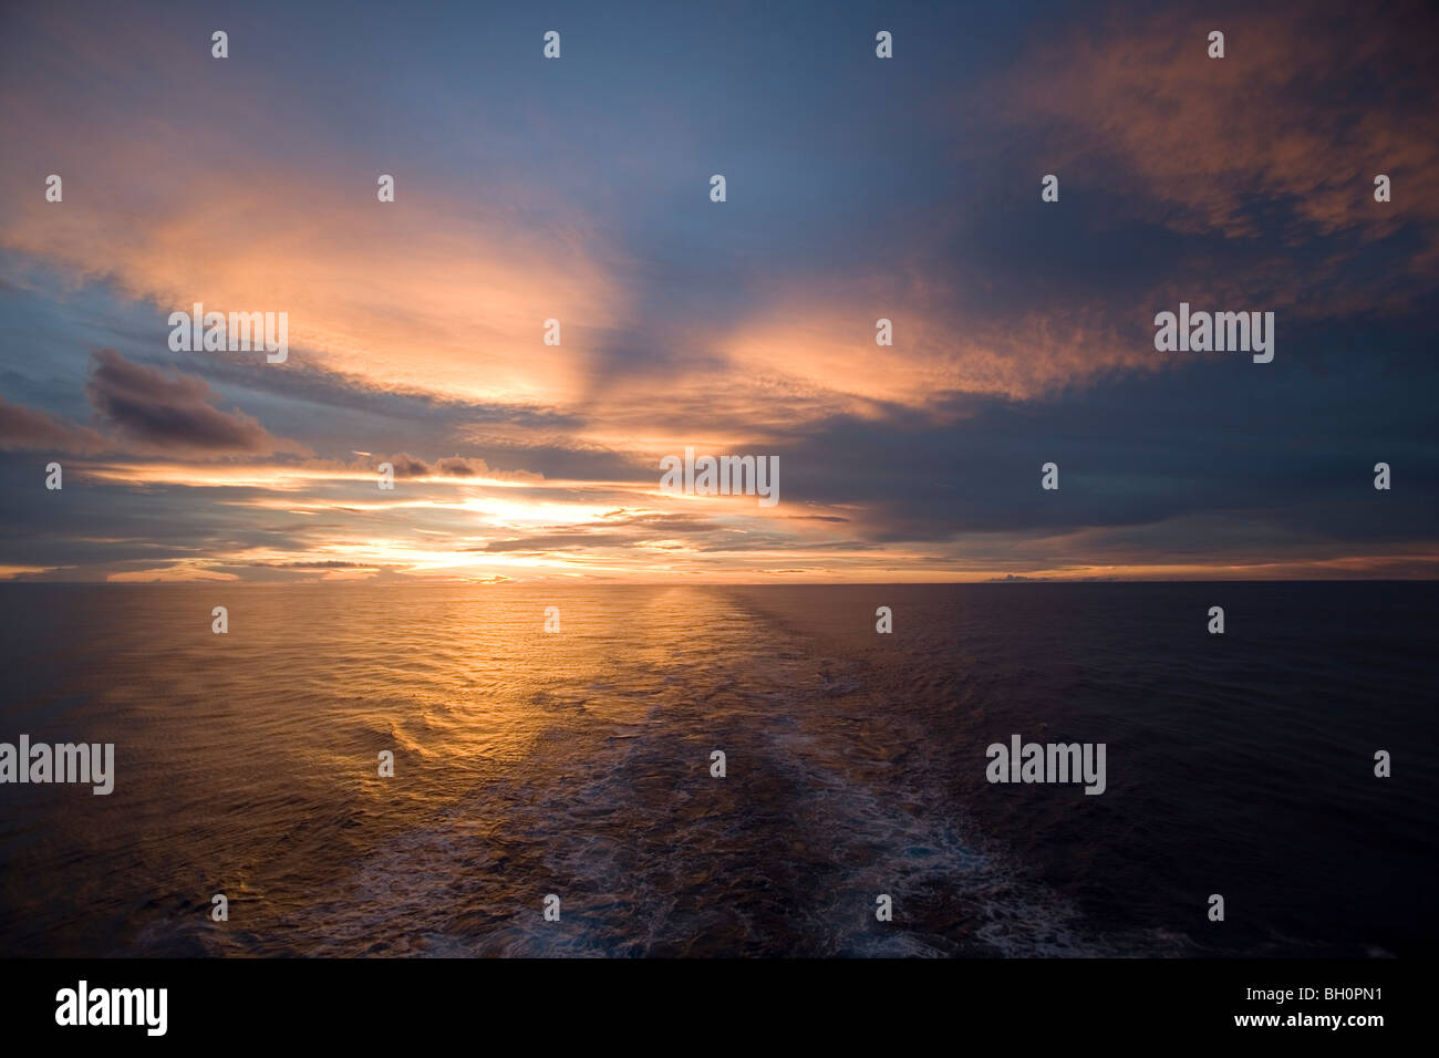
<svg viewBox="0 0 1439 1058"><path fill-rule="evenodd" d="M915 733L891 718L876 744L881 705L837 662L791 649L757 679L747 659L771 632L744 610L712 613L712 649L630 674L666 687L645 715L547 740L512 779L376 849L354 880L351 921L335 921L334 905L317 914L330 944L484 956L1168 950L1156 937L1094 936L1068 901L980 851L937 808L943 776L927 770ZM707 770L711 746L728 747L725 779ZM551 891L557 923L540 914ZM881 892L895 923L875 918ZM371 944L399 936L417 940Z"/></svg>

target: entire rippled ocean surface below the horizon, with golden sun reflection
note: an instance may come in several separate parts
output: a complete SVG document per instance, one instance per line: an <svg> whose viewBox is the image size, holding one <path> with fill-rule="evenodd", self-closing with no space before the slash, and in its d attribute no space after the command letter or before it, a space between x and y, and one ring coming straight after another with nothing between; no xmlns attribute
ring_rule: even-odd
<svg viewBox="0 0 1439 1058"><path fill-rule="evenodd" d="M0 741L117 757L109 796L0 786L3 956L1404 956L1439 931L1436 584L0 606ZM1016 733L1105 743L1107 790L990 785Z"/></svg>

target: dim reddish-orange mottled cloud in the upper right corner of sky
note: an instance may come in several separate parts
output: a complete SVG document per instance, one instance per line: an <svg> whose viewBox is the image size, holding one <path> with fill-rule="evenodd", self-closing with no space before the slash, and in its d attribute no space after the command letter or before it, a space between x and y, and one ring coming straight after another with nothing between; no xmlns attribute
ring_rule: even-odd
<svg viewBox="0 0 1439 1058"><path fill-rule="evenodd" d="M1439 222L1439 117L1432 81L1415 82L1430 50L1416 27L1432 16L1371 16L1338 4L1179 19L1114 9L1033 49L1000 98L1006 118L1045 130L1045 171L1137 194L1166 226L1373 239ZM1213 29L1223 59L1207 56ZM1383 206L1379 173L1403 187Z"/></svg>

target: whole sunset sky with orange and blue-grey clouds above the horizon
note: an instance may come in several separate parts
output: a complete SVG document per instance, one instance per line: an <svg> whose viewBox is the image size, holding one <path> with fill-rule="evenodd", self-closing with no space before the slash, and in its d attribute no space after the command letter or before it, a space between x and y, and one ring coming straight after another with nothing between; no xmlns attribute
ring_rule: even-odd
<svg viewBox="0 0 1439 1058"><path fill-rule="evenodd" d="M0 579L1436 577L1435 22L4 6ZM1157 351L1181 302L1274 360Z"/></svg>

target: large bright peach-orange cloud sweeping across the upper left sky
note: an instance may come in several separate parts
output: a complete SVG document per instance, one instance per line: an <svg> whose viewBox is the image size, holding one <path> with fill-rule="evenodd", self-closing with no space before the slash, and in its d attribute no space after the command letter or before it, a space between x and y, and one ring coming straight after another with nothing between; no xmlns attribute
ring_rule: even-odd
<svg viewBox="0 0 1439 1058"><path fill-rule="evenodd" d="M0 125L23 143L0 157L0 246L153 304L157 350L167 314L201 302L286 312L291 361L387 390L512 404L583 393L589 347L625 302L619 253L583 203L494 171L476 196L472 170L416 163L393 166L397 200L381 204L368 147L276 125L305 73L233 91L204 49L171 48L174 27L140 24L101 10L17 19L17 40L47 42L45 66L83 73L53 85L23 55L0 65ZM190 91L155 107L160 73ZM235 150L259 141L263 160ZM178 143L157 167L155 145ZM63 168L63 209L20 193L42 158ZM563 347L544 344L548 318Z"/></svg>

